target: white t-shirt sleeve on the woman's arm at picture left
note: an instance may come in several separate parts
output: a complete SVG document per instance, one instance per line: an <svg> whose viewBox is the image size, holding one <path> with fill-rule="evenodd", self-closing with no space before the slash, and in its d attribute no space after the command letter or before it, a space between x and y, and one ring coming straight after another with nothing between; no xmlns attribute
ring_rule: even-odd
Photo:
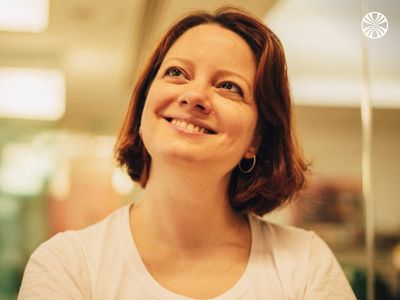
<svg viewBox="0 0 400 300"><path fill-rule="evenodd" d="M18 299L91 299L85 255L73 233L57 234L35 250Z"/></svg>

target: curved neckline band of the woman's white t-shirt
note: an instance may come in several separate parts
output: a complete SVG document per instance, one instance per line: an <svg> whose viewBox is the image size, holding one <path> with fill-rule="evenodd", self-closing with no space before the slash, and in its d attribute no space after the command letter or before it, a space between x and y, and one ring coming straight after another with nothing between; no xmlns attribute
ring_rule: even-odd
<svg viewBox="0 0 400 300"><path fill-rule="evenodd" d="M154 294L157 298L165 300L189 300L192 299L188 296L180 295L172 292L158 283L157 280L150 274L144 265L139 251L136 247L133 235L131 233L129 211L133 204L126 205L122 211L120 218L120 232L122 242L125 246L126 255L128 261L130 262L137 279L142 283L149 293ZM261 243L261 228L258 224L257 219L252 214L248 215L250 232L251 232L251 248L250 255L247 262L247 266L239 280L224 293L211 298L212 300L229 300L237 299L238 296L243 294L250 284L253 282L257 274L258 267L260 266L260 258L262 253L262 243ZM210 299L210 300L211 300Z"/></svg>

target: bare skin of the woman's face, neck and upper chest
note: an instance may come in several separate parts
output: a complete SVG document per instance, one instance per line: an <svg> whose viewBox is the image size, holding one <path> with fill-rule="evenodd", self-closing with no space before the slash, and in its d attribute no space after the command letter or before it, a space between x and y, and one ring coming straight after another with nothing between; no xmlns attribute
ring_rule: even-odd
<svg viewBox="0 0 400 300"><path fill-rule="evenodd" d="M215 297L247 266L248 220L232 210L227 189L232 169L257 150L255 70L239 35L200 25L169 49L149 89L141 130L152 164L131 230L148 271L173 292Z"/></svg>

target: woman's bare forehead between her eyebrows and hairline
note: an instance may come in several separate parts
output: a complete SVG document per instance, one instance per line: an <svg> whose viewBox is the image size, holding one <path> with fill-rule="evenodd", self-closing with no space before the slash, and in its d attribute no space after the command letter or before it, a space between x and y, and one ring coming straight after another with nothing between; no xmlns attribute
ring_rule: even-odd
<svg viewBox="0 0 400 300"><path fill-rule="evenodd" d="M171 46L164 60L171 57L199 62L229 64L250 73L255 72L255 57L246 41L237 33L217 24L202 24L187 30Z"/></svg>

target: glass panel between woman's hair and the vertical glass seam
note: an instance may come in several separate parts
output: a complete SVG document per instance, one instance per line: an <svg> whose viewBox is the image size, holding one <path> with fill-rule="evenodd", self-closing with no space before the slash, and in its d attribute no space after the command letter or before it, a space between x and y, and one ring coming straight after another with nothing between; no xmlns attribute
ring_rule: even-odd
<svg viewBox="0 0 400 300"><path fill-rule="evenodd" d="M366 299L359 1L277 1L265 20L282 40L308 188L267 218L314 230Z"/></svg>

